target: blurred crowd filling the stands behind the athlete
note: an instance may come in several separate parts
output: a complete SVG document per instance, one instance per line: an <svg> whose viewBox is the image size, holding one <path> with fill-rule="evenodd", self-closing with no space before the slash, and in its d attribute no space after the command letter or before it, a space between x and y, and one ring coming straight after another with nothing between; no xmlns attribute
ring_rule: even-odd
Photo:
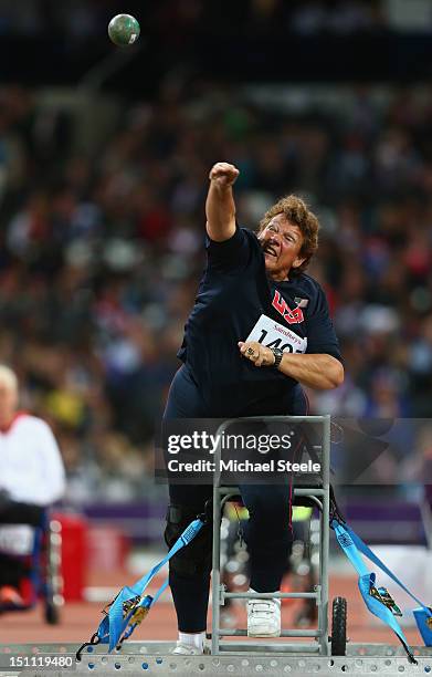
<svg viewBox="0 0 432 677"><path fill-rule="evenodd" d="M120 106L85 153L67 106L50 114L34 92L0 91L0 362L17 371L22 406L54 426L71 500L126 499L152 481L151 435L221 159L241 170L242 225L289 191L320 217L309 272L327 291L346 381L312 393L313 409L432 415L432 90L384 101L362 88L349 106L340 91L333 107L297 111L265 100L168 87Z"/></svg>

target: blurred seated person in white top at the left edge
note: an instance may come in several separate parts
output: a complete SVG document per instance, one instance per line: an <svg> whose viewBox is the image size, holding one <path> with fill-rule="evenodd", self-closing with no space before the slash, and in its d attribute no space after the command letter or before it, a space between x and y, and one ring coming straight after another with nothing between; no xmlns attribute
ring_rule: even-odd
<svg viewBox="0 0 432 677"><path fill-rule="evenodd" d="M0 523L42 523L44 509L64 492L63 461L45 421L18 410L18 381L0 365ZM0 554L0 605L20 604L25 565Z"/></svg>

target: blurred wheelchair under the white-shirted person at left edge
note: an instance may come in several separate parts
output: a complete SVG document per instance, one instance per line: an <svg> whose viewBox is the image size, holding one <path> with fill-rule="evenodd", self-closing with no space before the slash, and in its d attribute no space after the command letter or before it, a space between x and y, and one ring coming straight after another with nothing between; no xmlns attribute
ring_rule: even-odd
<svg viewBox="0 0 432 677"><path fill-rule="evenodd" d="M64 603L61 524L48 509L38 522L0 520L0 615L28 611L41 602L45 622L56 625Z"/></svg>

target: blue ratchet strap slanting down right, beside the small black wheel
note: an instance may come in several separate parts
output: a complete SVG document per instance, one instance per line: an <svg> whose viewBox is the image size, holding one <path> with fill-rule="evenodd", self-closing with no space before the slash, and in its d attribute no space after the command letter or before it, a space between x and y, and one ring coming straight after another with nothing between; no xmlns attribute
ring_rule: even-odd
<svg viewBox="0 0 432 677"><path fill-rule="evenodd" d="M425 646L432 645L432 610L422 604L422 602L420 602L420 600L418 600L418 597L415 597L415 595L413 595L408 587L403 585L401 581L399 581L399 579L388 569L388 566L386 566L386 564L383 564L383 562L381 562L381 560L370 550L370 548L363 543L363 541L352 531L352 529L348 527L348 524L343 524L334 519L331 520L330 525L335 530L340 548L344 550L345 554L359 574L358 586L366 606L375 616L378 616L381 618L381 621L383 621L383 623L391 627L402 643L409 660L411 663L417 663L412 650L408 645L407 638L394 617L402 615L399 607L396 605L394 601L391 598L384 587L376 586L376 574L369 572L360 556L360 552L377 564L413 600L415 600L418 604L421 605L421 608L415 610L413 613Z"/></svg>

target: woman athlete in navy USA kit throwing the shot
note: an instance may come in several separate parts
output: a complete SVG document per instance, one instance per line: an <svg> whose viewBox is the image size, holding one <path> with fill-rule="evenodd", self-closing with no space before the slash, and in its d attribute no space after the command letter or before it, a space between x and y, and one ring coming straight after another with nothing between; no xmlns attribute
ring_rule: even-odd
<svg viewBox="0 0 432 677"><path fill-rule="evenodd" d="M317 249L317 218L291 195L268 209L257 233L240 228L232 188L238 176L228 163L210 171L207 268L185 327L178 353L183 364L169 390L167 419L305 415L302 385L327 389L344 381L325 293L304 272ZM283 351L276 347L281 332ZM240 490L250 514L250 587L277 592L291 545L289 485L240 483ZM171 546L203 512L212 487L171 483L169 496L165 539ZM203 653L211 538L207 524L169 563L177 654ZM247 635L280 633L281 601L250 600Z"/></svg>

